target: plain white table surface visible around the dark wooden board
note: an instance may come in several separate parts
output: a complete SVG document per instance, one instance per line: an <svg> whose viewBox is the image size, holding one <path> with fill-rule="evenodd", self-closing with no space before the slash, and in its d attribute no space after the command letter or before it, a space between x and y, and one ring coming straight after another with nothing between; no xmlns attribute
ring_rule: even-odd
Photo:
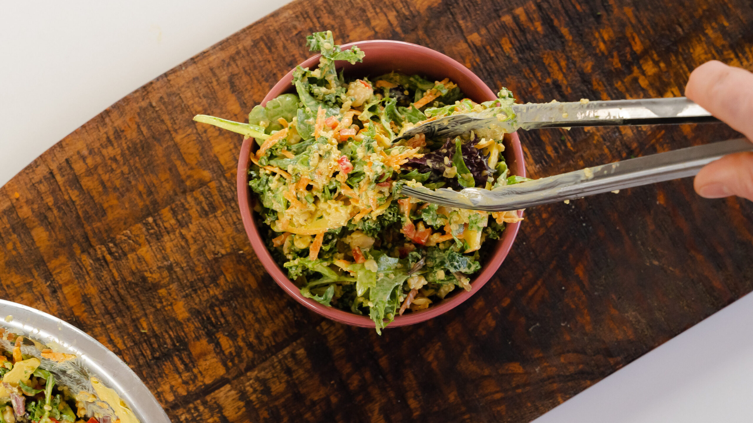
<svg viewBox="0 0 753 423"><path fill-rule="evenodd" d="M5 2L0 185L118 99L287 2ZM753 421L753 294L536 420L569 421Z"/></svg>

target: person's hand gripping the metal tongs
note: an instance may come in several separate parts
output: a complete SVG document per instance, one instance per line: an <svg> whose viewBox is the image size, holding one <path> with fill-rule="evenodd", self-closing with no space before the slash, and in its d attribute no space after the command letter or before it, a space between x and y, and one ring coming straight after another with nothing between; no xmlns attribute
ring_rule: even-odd
<svg viewBox="0 0 753 423"><path fill-rule="evenodd" d="M753 140L753 73L717 60L698 66L685 96ZM753 200L753 152L729 154L704 166L694 181L706 198L742 196Z"/></svg>

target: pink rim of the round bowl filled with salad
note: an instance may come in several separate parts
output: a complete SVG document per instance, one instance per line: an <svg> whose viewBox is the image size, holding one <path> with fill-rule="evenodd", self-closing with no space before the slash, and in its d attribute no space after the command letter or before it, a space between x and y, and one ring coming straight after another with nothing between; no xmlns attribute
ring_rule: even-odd
<svg viewBox="0 0 753 423"><path fill-rule="evenodd" d="M452 59L451 57L446 56L443 53L439 53L436 50L432 50L428 47L423 47L418 44L411 44L405 41L394 40L354 41L348 44L343 44L340 47L345 50L356 45L366 53L367 50L370 50L372 48L398 47L401 50L406 50L406 53L422 53L423 55L431 56L432 59L435 59L438 62L444 62L445 65L448 65L451 68L455 68L458 72L462 73L465 78L468 78L470 84L473 84L478 89L480 89L483 95L486 96L485 99L477 99L480 102L496 98L492 90L490 90L489 87L487 87L486 84L484 84L483 81L481 81L481 79L478 78L473 72L466 68L465 65L462 65L455 59ZM303 66L305 68L315 65L317 62L319 62L319 57L321 57L320 54L311 56L301 62L300 66ZM267 96L264 97L264 100L262 100L262 106L267 105L267 102L270 101L270 99L274 99L280 94L291 91L291 83L293 80L294 70L295 68L291 69L290 72L288 72L277 82L277 84L272 87L269 93L267 93ZM245 233L248 236L248 240L251 242L252 248L254 248L257 257L261 261L262 265L264 265L264 269L267 269L267 272L269 272L270 276L272 276L272 278L277 282L277 285L279 285L280 288L290 294L291 297L293 297L295 300L297 300L298 303L302 304L307 309L343 324L349 324L358 327L375 327L374 322L367 315L356 315L355 313L346 312L345 310L323 306L322 304L317 303L315 300L303 297L303 294L300 294L300 289L297 288L293 281L288 278L287 274L283 272L279 264L277 264L273 259L270 251L267 249L267 245L265 245L264 241L262 241L261 234L259 233L258 227L256 226L255 218L253 215L253 206L251 203L252 196L249 195L250 190L248 188L248 166L250 160L248 159L248 157L249 154L251 154L254 144L255 142L253 138L246 138L243 140L238 160L238 173L236 177L238 190L237 195L239 210L243 221L243 227L245 228ZM511 147L512 149L514 161L511 164L510 168L511 170L513 170L513 168L516 168L514 169L514 175L525 177L526 163L523 159L523 148L520 146L520 138L518 137L517 132L506 134L505 144L508 146L508 148ZM245 160L243 159L243 157L245 157ZM520 211L519 213L522 217L523 212ZM490 278L492 278L499 266L501 266L501 263L505 260L505 257L507 257L517 236L519 228L520 222L516 222L514 224L506 224L501 238L498 239L495 244L495 252L491 257L487 259L486 264L482 267L481 272L474 278L473 281L471 281L471 291L458 292L457 294L452 295L446 300L441 301L441 303L438 303L436 306L431 306L428 309L422 310L420 312L410 312L406 315L395 316L395 320L387 325L386 328L401 327L408 324L416 324L422 321L427 321L431 318L450 311L450 309L459 306L465 300L468 300L468 298L476 294L476 292L479 291L480 288L483 287L483 285L486 285L486 282L489 281Z"/></svg>

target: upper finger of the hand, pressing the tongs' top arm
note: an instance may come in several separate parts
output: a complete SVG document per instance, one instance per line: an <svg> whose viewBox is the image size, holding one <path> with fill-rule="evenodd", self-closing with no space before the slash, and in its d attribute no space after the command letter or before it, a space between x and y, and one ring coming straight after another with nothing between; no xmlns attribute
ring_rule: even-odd
<svg viewBox="0 0 753 423"><path fill-rule="evenodd" d="M706 62L691 73L685 96L753 140L753 73Z"/></svg>

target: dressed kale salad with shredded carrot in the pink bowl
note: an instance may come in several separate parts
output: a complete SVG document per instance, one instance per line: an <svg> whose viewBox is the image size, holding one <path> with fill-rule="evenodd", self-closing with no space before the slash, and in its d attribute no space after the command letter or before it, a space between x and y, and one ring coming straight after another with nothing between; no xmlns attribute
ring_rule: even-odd
<svg viewBox="0 0 753 423"><path fill-rule="evenodd" d="M330 31L306 44L322 56L316 69L295 69L295 93L255 106L248 123L194 120L255 138L249 185L261 232L303 296L369 315L381 333L396 315L427 309L456 288L470 291L481 245L521 220L517 212L429 204L401 195L401 186L492 189L526 180L509 175L502 133L393 140L468 111L495 108L499 120L512 119L515 99L503 88L477 104L448 78L354 78L336 62L360 62L358 47L341 50Z"/></svg>

